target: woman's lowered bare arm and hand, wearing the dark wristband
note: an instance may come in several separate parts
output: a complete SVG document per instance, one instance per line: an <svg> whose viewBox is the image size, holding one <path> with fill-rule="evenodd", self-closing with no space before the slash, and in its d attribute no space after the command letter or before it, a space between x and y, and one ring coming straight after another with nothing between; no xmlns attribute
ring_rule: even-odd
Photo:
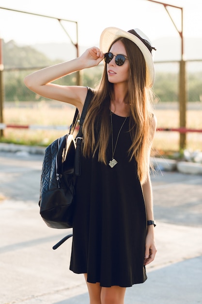
<svg viewBox="0 0 202 304"><path fill-rule="evenodd" d="M153 119L153 138L155 136L155 129L156 129L156 118ZM150 151L149 149L148 157L150 158ZM146 182L142 185L145 206L146 206L146 213L147 213L147 220L154 220L154 213L153 213L153 196L152 196L152 185L151 179L149 174L148 168L148 176ZM147 226L147 236L145 241L145 260L144 265L148 265L155 259L156 254L156 247L155 247L155 233L154 233L154 225Z"/></svg>

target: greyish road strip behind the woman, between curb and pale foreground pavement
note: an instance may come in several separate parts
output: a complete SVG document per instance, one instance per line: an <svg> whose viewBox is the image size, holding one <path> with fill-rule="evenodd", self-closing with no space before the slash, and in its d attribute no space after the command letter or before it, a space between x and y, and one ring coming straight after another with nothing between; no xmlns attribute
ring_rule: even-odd
<svg viewBox="0 0 202 304"><path fill-rule="evenodd" d="M11 201L38 203L43 155L0 152L0 193ZM202 176L152 174L155 219L202 227Z"/></svg>

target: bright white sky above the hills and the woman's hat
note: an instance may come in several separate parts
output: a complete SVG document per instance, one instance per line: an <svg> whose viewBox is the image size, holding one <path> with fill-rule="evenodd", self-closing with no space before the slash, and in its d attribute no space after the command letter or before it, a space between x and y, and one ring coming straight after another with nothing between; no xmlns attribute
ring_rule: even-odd
<svg viewBox="0 0 202 304"><path fill-rule="evenodd" d="M165 2L183 7L184 36L199 37L202 43L202 0ZM179 36L164 6L148 0L0 0L0 7L77 21L78 44L87 47L97 45L102 30L109 26L126 31L140 28L151 40ZM168 10L181 30L181 10L171 7ZM75 24L63 25L75 41ZM69 41L57 20L3 9L0 9L0 37L6 42L13 39L26 45Z"/></svg>

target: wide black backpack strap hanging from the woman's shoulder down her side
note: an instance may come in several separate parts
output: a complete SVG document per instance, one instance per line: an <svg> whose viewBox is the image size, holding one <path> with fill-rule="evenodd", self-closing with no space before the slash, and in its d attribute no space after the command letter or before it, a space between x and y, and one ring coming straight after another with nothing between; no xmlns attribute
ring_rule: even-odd
<svg viewBox="0 0 202 304"><path fill-rule="evenodd" d="M77 144L76 155L75 155L75 175L76 176L79 176L81 173L81 144L82 144L82 140L83 140L82 127L83 127L84 119L87 114L89 104L93 98L93 90L90 87L87 87L87 88L88 88L88 92L87 92L86 99L85 99L85 102L83 105L83 110L82 110L82 114L81 114L80 121L79 121L80 127L79 127L79 131L78 131L78 135L76 137L76 144Z"/></svg>

